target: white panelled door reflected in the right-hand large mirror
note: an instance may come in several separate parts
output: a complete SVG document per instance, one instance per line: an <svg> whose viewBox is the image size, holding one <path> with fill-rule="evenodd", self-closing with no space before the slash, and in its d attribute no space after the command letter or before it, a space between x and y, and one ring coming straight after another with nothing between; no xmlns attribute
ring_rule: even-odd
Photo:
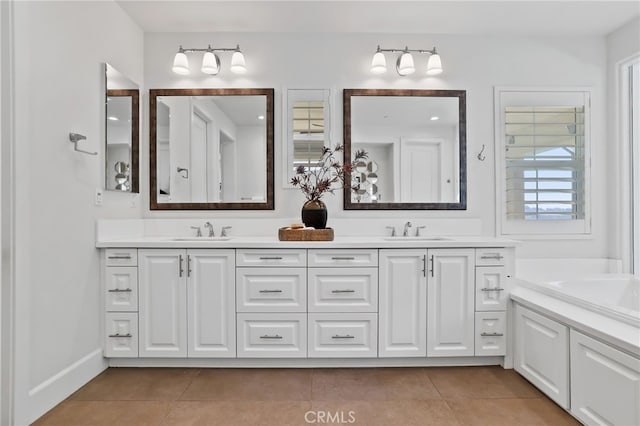
<svg viewBox="0 0 640 426"><path fill-rule="evenodd" d="M402 140L400 156L403 202L439 202L442 197L442 140Z"/></svg>

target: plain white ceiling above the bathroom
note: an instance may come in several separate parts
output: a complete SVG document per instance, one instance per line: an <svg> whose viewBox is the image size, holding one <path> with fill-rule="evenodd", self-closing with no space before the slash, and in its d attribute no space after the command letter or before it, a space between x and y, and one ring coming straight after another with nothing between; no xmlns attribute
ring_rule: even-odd
<svg viewBox="0 0 640 426"><path fill-rule="evenodd" d="M145 32L606 35L638 0L116 0Z"/></svg>

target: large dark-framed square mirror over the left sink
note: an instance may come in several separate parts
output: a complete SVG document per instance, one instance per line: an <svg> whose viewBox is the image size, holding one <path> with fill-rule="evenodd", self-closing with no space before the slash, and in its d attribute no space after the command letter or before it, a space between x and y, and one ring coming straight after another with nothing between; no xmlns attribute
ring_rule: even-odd
<svg viewBox="0 0 640 426"><path fill-rule="evenodd" d="M152 89L151 210L273 210L273 89Z"/></svg>

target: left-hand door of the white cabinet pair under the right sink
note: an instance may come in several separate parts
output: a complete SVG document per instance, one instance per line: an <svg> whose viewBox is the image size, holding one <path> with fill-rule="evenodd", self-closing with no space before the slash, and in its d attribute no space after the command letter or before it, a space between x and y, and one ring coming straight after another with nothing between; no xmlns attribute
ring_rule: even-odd
<svg viewBox="0 0 640 426"><path fill-rule="evenodd" d="M426 250L380 250L380 357L427 354Z"/></svg>

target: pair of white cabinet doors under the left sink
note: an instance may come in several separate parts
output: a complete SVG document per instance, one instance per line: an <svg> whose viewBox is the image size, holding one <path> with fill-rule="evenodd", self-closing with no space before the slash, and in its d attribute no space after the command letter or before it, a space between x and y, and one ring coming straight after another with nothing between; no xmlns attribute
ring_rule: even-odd
<svg viewBox="0 0 640 426"><path fill-rule="evenodd" d="M140 356L235 356L234 250L138 254Z"/></svg>

